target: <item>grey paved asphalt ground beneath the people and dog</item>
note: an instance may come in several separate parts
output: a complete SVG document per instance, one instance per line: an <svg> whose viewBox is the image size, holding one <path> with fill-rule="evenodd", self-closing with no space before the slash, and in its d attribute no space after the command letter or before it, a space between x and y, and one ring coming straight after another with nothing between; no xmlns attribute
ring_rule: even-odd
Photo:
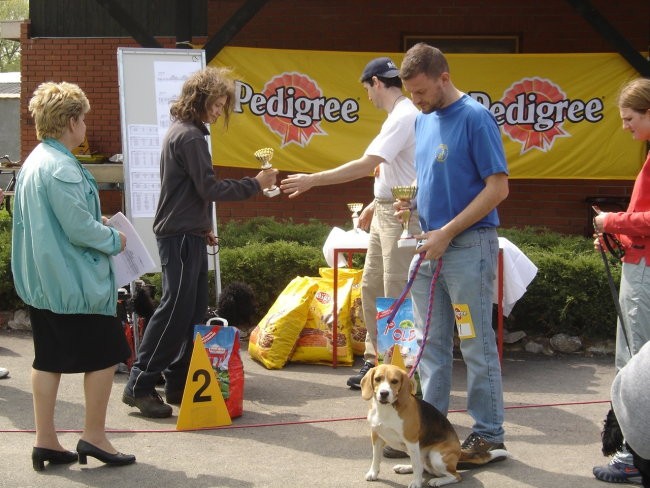
<svg viewBox="0 0 650 488"><path fill-rule="evenodd" d="M0 330L0 487L295 488L406 487L410 475L382 462L380 479L367 482L371 446L366 403L345 386L349 367L290 364L266 370L244 348L244 415L228 428L178 432L176 415L141 417L122 404L126 376L115 376L107 427L122 452L137 463L111 468L88 464L32 470L33 412L29 333ZM608 484L591 474L607 460L600 427L614 378L611 357L544 357L506 353L503 378L506 446L513 459L462 471L459 487L581 488ZM356 365L358 366L358 364ZM64 446L74 449L83 424L81 375L63 377L56 412ZM464 439L471 419L465 408L465 368L454 364L449 418ZM428 479L428 477L426 478Z"/></svg>

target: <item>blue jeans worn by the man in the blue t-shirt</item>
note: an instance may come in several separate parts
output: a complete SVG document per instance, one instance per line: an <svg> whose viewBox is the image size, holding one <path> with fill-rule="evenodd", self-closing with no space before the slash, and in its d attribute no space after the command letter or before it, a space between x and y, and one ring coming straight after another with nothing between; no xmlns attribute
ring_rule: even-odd
<svg viewBox="0 0 650 488"><path fill-rule="evenodd" d="M466 306L475 335L460 343L467 366L467 409L474 419L472 430L489 442L503 442L504 437L501 364L492 329L498 252L499 240L493 228L465 231L452 240L441 258L431 324L418 367L424 400L446 415L453 367L454 306L460 305L461 310ZM437 264L438 260L423 261L411 288L415 325L421 331L427 323Z"/></svg>

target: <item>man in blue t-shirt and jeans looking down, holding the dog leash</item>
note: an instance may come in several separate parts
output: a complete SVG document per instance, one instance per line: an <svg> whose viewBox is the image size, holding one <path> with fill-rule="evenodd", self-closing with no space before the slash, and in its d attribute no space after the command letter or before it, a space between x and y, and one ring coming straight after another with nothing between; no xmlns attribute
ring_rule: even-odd
<svg viewBox="0 0 650 488"><path fill-rule="evenodd" d="M415 122L415 169L422 227L418 252L425 256L411 289L421 330L429 319L430 287L441 265L419 365L423 398L447 414L455 324L467 365L467 407L474 419L463 452L505 449L501 366L492 329L499 250L496 207L508 196L501 134L492 114L453 85L440 50L423 43L413 46L400 77L422 111Z"/></svg>

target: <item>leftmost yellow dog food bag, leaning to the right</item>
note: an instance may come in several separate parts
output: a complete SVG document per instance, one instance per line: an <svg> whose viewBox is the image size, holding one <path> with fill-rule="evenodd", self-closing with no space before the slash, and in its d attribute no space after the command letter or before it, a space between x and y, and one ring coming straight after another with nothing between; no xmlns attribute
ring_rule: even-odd
<svg viewBox="0 0 650 488"><path fill-rule="evenodd" d="M268 369L284 367L307 322L309 305L317 290L316 280L307 276L298 276L286 286L251 332L248 342L251 358Z"/></svg>

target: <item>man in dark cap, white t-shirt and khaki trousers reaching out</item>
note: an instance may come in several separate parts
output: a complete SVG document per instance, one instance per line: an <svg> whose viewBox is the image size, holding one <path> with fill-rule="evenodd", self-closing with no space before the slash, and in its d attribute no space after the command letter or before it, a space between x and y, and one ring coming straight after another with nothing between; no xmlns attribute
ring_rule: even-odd
<svg viewBox="0 0 650 488"><path fill-rule="evenodd" d="M399 68L386 57L370 61L361 74L368 98L388 113L381 131L364 154L336 168L313 174L293 174L282 180L280 188L289 198L297 197L313 186L333 185L375 175L374 200L359 216L359 228L370 228L370 241L363 268L361 299L366 323L364 364L348 379L348 386L360 388L361 378L377 360L377 320L375 299L397 298L408 278L412 248L398 248L402 224L395 217L391 188L408 186L415 181L415 117L417 108L402 92ZM411 217L411 233L419 234L417 215Z"/></svg>

